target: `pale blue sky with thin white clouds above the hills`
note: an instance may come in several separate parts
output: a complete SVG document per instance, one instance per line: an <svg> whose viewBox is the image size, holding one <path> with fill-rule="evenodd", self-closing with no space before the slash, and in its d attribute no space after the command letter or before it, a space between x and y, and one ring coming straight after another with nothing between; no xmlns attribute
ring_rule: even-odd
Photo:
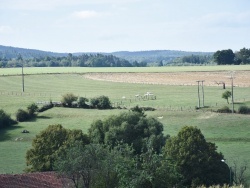
<svg viewBox="0 0 250 188"><path fill-rule="evenodd" d="M250 0L0 0L0 45L52 52L250 48Z"/></svg>

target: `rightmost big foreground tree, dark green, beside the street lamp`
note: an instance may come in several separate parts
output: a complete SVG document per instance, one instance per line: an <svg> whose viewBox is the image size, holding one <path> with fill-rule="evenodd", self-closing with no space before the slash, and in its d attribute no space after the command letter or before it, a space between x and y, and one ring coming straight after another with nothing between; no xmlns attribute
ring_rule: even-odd
<svg viewBox="0 0 250 188"><path fill-rule="evenodd" d="M206 142L196 127L183 127L167 140L165 156L173 160L183 176L182 185L197 187L229 183L229 169L214 143Z"/></svg>

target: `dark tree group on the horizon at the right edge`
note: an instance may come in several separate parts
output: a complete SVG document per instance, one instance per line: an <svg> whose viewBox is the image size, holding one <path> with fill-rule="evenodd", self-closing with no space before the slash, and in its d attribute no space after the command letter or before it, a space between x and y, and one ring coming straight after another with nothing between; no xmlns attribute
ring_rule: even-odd
<svg viewBox="0 0 250 188"><path fill-rule="evenodd" d="M242 48L235 53L231 49L218 50L213 57L218 65L250 64L250 49Z"/></svg>

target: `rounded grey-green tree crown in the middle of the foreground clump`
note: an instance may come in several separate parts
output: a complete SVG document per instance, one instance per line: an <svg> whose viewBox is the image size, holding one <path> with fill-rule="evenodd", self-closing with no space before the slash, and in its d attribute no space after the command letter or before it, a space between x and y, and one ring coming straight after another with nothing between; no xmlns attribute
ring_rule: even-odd
<svg viewBox="0 0 250 188"><path fill-rule="evenodd" d="M117 145L117 142L132 145L136 154L146 149L147 142L151 143L151 147L157 153L165 143L163 125L159 121L131 111L93 122L89 135L94 143L112 147Z"/></svg>

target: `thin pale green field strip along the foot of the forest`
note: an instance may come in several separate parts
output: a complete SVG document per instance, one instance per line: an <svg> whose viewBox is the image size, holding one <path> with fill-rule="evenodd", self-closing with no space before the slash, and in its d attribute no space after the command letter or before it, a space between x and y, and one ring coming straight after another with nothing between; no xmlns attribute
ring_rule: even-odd
<svg viewBox="0 0 250 188"><path fill-rule="evenodd" d="M61 73L91 73L91 72L196 72L196 71L246 71L250 65L230 66L164 66L164 67L25 67L24 74L61 74ZM0 75L20 75L19 68L1 68Z"/></svg>

